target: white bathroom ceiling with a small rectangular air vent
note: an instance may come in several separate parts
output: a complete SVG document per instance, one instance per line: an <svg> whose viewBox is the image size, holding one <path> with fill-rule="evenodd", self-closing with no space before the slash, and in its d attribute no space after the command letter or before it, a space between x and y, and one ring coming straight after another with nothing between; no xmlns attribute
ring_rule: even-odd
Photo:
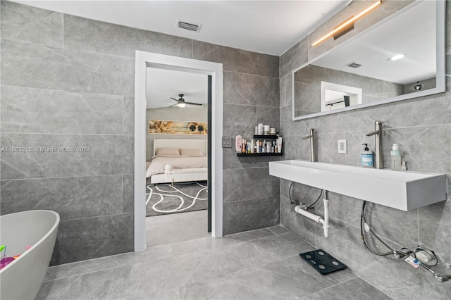
<svg viewBox="0 0 451 300"><path fill-rule="evenodd" d="M280 56L350 0L17 1L51 11ZM199 33L176 19L201 23Z"/></svg>

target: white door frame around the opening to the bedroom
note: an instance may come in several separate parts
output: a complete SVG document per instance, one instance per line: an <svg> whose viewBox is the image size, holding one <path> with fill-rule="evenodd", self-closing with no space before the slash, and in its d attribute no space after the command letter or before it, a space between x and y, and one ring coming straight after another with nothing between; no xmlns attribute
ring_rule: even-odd
<svg viewBox="0 0 451 300"><path fill-rule="evenodd" d="M211 235L223 235L223 65L135 51L135 252L146 249L146 80L147 68L211 75Z"/></svg>

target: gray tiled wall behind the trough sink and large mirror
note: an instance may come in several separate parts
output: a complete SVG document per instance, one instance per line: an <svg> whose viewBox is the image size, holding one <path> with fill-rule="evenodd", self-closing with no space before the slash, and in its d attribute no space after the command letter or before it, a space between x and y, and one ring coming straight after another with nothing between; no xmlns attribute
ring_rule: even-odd
<svg viewBox="0 0 451 300"><path fill-rule="evenodd" d="M389 15L393 11L392 8L395 6L399 8L405 4L402 2L406 1L384 1L383 5L388 4L388 6L385 6L381 13ZM362 3L366 2L354 1L338 15L345 15L346 10L353 11L356 9L354 6ZM451 5L447 4L446 30L450 32ZM378 13L376 19L381 18L381 13ZM371 23L366 25L371 25ZM324 30L324 27L320 27L316 31ZM359 28L357 28L357 32L358 30ZM344 36L340 38L341 41L338 39L337 42L343 42L344 38L348 37ZM307 41L313 39L312 35L306 37L280 57L280 120L282 120L280 127L285 139L285 158L309 160L309 142L303 141L301 137L308 133L309 128L314 128L318 136L316 142L319 145L319 161L359 165L362 142L368 142L374 149L373 137L366 137L365 133L373 130L374 120L383 120L385 122L385 163L388 162L387 154L389 154L391 145L398 143L401 147L402 159L407 161L409 170L445 173L448 177L448 190L450 190L451 78L447 77L447 92L442 94L292 121L290 70L294 70L302 63L321 54L321 51L326 51L334 45L333 40L330 39L321 46L321 51L315 49L314 51L319 52L307 55ZM446 54L446 73L451 74L450 35L447 35ZM337 154L337 139L347 139L347 154ZM359 229L362 200L329 193L331 227L330 236L325 239L321 226L294 212L294 207L289 204L289 187L290 182L281 180L281 225L297 232L299 236L317 248L328 251L346 263L357 275L394 299L421 299L424 297L444 299L443 292L445 290L449 296L449 287L435 282L433 276L426 270L414 269L402 260L396 261L391 258L374 256L364 249ZM309 204L317 198L319 192L318 189L295 184L291 195L293 199ZM322 211L322 204L316 205L316 213L322 215ZM366 215L371 219L373 230L396 249L399 249L400 246L409 246L414 249L420 245L433 249L440 261L451 262L451 201L449 196L447 201L409 212L370 204ZM386 251L384 246L378 242L374 242L373 245L377 245L380 251ZM438 267L436 270L439 273L450 274L450 270L445 270L443 267Z"/></svg>

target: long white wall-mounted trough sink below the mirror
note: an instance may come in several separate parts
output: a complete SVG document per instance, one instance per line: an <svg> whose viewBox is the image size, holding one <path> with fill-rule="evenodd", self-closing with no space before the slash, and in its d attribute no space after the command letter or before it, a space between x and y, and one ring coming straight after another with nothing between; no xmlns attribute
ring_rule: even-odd
<svg viewBox="0 0 451 300"><path fill-rule="evenodd" d="M446 175L358 165L271 161L269 175L402 211L446 200Z"/></svg>

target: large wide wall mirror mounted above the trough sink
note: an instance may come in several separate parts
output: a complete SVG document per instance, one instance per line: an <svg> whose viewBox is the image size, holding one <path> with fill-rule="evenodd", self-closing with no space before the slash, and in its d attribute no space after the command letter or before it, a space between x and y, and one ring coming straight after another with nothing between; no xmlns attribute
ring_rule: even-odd
<svg viewBox="0 0 451 300"><path fill-rule="evenodd" d="M292 87L293 120L445 92L445 1L414 1L293 70Z"/></svg>

